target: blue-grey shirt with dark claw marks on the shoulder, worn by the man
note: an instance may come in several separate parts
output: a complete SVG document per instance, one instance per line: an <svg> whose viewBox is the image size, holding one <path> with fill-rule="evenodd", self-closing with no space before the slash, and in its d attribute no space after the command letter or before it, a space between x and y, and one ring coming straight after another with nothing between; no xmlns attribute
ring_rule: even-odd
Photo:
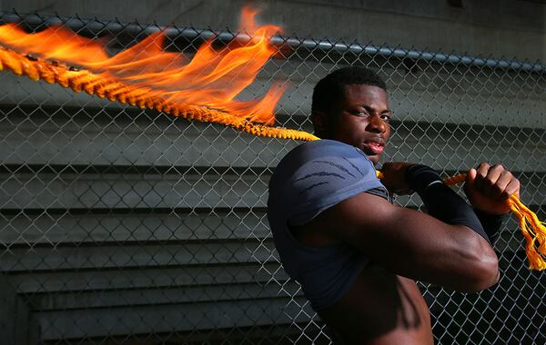
<svg viewBox="0 0 546 345"><path fill-rule="evenodd" d="M349 244L308 247L289 227L304 225L360 192L388 195L362 151L331 140L296 147L278 163L269 182L268 222L278 254L315 311L339 301L368 260Z"/></svg>

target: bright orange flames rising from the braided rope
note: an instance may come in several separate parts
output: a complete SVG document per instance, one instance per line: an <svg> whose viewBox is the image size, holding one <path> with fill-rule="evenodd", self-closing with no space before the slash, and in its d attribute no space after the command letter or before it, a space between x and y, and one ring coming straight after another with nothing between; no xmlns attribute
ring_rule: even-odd
<svg viewBox="0 0 546 345"><path fill-rule="evenodd" d="M125 51L109 56L104 42L91 40L55 26L26 34L16 25L0 26L0 44L20 54L56 60L85 68L104 80L127 85L127 98L138 98L143 90L175 102L194 104L248 119L275 123L274 109L286 86L275 83L261 99L247 102L236 96L252 84L276 48L269 37L280 31L276 25L258 26L257 11L248 7L241 14L240 30L252 34L247 44L227 44L215 50L212 39L202 44L191 61L183 54L163 51L163 33L151 34ZM66 71L70 78L88 78L87 71ZM99 78L100 80L101 78ZM79 91L79 90L76 90Z"/></svg>

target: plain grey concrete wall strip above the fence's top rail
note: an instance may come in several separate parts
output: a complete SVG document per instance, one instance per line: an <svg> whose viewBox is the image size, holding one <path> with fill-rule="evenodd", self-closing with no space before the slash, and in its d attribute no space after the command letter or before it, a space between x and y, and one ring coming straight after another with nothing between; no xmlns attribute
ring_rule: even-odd
<svg viewBox="0 0 546 345"><path fill-rule="evenodd" d="M241 0L4 0L0 1L0 9L236 30L240 8L246 3L248 1ZM461 0L461 7L450 5L447 0L255 3L262 8L263 23L282 25L288 35L546 61L546 3L543 1Z"/></svg>

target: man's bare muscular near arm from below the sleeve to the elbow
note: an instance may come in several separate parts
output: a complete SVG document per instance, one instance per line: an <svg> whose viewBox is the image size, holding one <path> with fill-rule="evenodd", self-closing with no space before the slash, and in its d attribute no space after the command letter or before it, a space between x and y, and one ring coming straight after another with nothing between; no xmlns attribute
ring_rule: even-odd
<svg viewBox="0 0 546 345"><path fill-rule="evenodd" d="M350 243L393 273L458 291L484 290L499 278L497 256L478 233L366 192L322 212L304 231Z"/></svg>

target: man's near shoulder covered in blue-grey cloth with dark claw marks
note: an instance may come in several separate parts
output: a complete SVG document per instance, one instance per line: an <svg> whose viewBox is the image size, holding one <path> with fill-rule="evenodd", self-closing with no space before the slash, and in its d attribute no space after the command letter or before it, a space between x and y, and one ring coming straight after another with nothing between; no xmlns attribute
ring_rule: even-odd
<svg viewBox="0 0 546 345"><path fill-rule="evenodd" d="M298 226L377 188L384 189L373 163L358 148L335 141L305 143L288 153L271 177L268 215Z"/></svg>

